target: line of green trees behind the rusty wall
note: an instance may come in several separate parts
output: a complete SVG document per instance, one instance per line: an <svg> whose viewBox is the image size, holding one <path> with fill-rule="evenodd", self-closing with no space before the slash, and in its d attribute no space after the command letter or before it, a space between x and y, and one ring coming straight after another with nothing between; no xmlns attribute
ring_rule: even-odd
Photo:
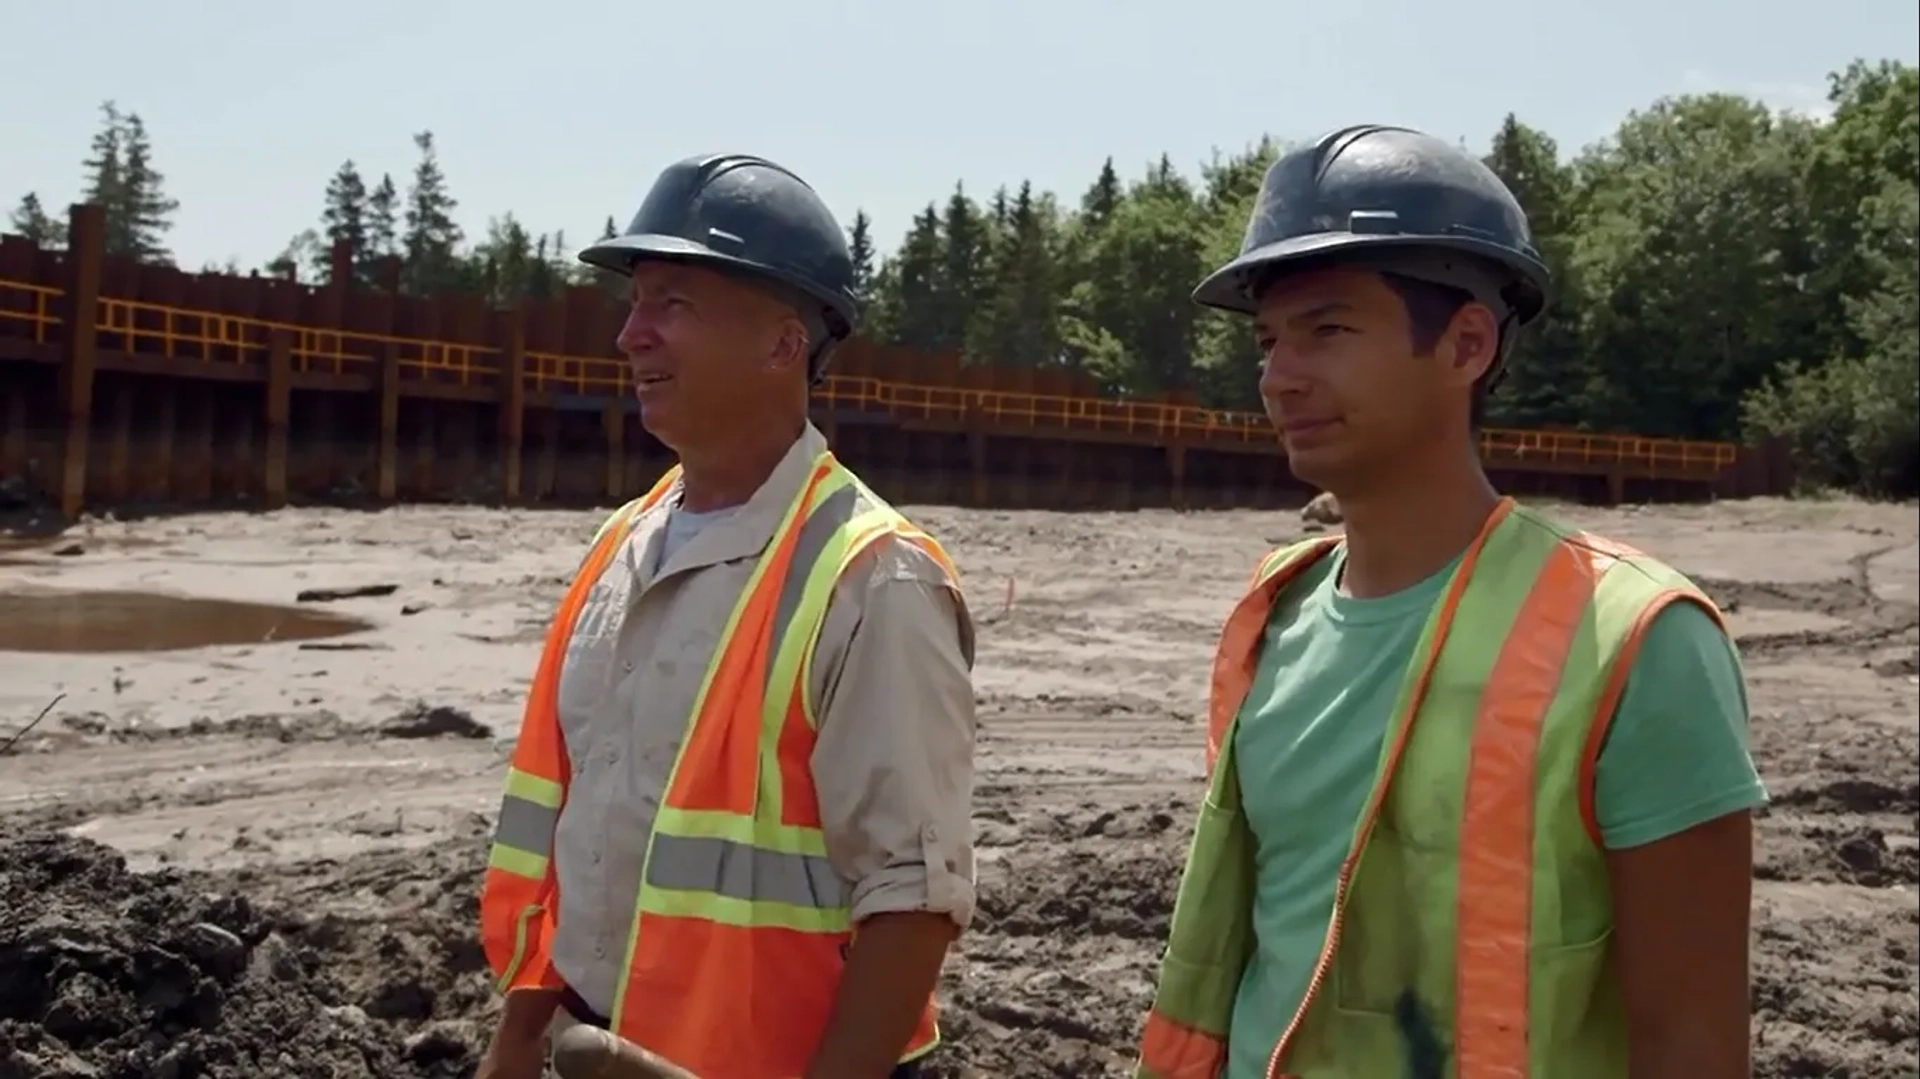
<svg viewBox="0 0 1920 1079"><path fill-rule="evenodd" d="M1855 61L1828 83L1822 117L1738 94L1663 98L1576 154L1507 115L1484 159L1526 205L1555 296L1488 422L1780 440L1809 486L1916 493L1920 73ZM108 207L111 252L165 261L177 204L146 131L111 104L104 117L84 196ZM1129 177L1110 159L1077 194L956 184L891 255L856 213L866 332L977 363L1079 371L1112 394L1258 407L1246 326L1188 292L1236 252L1281 148L1261 138L1196 175L1162 157ZM430 132L415 152L405 188L342 163L319 223L265 269L324 280L326 250L344 238L363 284L396 257L409 294L516 303L595 282L566 236L511 213L463 236ZM13 228L60 240L33 196Z"/></svg>

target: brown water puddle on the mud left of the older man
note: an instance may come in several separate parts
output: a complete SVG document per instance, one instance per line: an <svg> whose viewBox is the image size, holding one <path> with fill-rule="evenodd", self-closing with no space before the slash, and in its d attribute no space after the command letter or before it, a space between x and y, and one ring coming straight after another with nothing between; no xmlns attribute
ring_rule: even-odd
<svg viewBox="0 0 1920 1079"><path fill-rule="evenodd" d="M0 651L15 653L163 653L313 641L371 628L323 611L152 591L0 593Z"/></svg>

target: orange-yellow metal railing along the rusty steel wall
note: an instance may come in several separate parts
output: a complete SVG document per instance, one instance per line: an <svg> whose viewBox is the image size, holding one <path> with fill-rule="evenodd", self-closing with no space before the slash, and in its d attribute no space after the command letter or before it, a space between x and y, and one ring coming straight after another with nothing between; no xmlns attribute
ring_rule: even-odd
<svg viewBox="0 0 1920 1079"><path fill-rule="evenodd" d="M58 338L60 290L0 280L0 324L27 326L35 344ZM217 311L198 311L140 300L102 298L98 330L119 338L127 351L190 357L204 363L265 365L275 332L290 344L294 371L374 372L394 353L403 374L461 386L492 384L499 349L457 342L321 330ZM526 382L534 392L624 394L626 365L618 359L526 353ZM826 378L818 397L835 405L883 411L899 419L958 420L977 417L1004 426L1066 432L1112 432L1156 440L1273 444L1273 428L1260 413L1200 409L1160 401L1121 401L1014 390L916 386L854 374ZM1503 430L1480 434L1488 459L1536 468L1628 468L1655 476L1713 476L1734 463L1738 447L1722 442L1578 434L1555 430Z"/></svg>

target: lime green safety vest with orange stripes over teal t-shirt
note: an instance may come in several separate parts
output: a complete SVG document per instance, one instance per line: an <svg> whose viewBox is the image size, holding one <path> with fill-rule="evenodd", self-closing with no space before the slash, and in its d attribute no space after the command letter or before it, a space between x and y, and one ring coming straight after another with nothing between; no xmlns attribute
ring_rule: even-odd
<svg viewBox="0 0 1920 1079"><path fill-rule="evenodd" d="M1338 540L1269 555L1213 662L1212 779L1137 1079L1215 1079L1254 948L1254 837L1233 735L1275 597ZM1277 1077L1409 1075L1404 1006L1440 1016L1455 1079L1619 1079L1594 764L1632 657L1674 601L1720 612L1630 547L1501 501L1415 647Z"/></svg>

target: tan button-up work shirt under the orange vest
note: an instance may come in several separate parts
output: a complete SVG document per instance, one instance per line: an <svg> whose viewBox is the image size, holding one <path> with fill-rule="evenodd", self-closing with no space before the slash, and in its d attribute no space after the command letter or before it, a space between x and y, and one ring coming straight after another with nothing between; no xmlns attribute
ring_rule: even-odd
<svg viewBox="0 0 1920 1079"><path fill-rule="evenodd" d="M812 426L774 474L684 545L678 490L653 505L588 593L561 666L572 783L555 831L553 966L599 1014L626 958L641 860L707 662L755 561L826 438ZM680 530L674 530L680 532ZM852 916L973 916L973 622L939 563L887 540L833 589L814 647L812 772L828 858Z"/></svg>

